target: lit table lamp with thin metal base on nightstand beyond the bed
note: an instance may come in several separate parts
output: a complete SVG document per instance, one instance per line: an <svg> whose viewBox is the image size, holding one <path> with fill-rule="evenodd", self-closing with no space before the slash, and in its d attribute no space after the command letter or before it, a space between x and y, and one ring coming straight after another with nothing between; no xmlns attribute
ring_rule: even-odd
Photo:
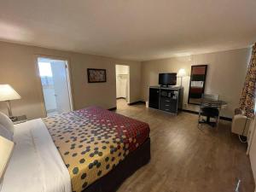
<svg viewBox="0 0 256 192"><path fill-rule="evenodd" d="M20 95L9 84L0 84L0 102L6 102L10 119L13 118L10 101L20 98Z"/></svg>

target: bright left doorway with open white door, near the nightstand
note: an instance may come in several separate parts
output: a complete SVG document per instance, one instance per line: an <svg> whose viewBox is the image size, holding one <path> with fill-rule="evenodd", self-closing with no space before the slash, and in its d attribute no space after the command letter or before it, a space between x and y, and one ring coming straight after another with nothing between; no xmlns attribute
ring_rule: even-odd
<svg viewBox="0 0 256 192"><path fill-rule="evenodd" d="M38 70L47 116L72 111L68 62L38 57Z"/></svg>

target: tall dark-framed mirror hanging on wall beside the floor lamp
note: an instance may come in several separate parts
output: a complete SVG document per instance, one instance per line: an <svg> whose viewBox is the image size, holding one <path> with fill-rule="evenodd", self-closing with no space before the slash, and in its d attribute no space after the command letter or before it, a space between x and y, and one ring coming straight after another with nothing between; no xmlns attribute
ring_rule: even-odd
<svg viewBox="0 0 256 192"><path fill-rule="evenodd" d="M205 91L207 79L207 65L191 66L189 83L189 104L200 104L200 99Z"/></svg>

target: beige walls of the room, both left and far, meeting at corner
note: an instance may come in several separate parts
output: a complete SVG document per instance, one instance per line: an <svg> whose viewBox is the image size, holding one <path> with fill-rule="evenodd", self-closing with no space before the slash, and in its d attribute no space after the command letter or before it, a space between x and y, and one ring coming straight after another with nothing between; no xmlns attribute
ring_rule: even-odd
<svg viewBox="0 0 256 192"><path fill-rule="evenodd" d="M184 68L188 76L183 78L183 108L196 110L195 106L187 105L190 67L208 64L206 92L219 94L227 101L229 105L222 115L232 117L234 108L238 106L250 49L143 61L141 65L137 61L0 42L0 84L11 84L20 93L22 99L12 102L13 112L16 115L26 114L29 119L44 116L44 99L36 67L38 55L69 61L74 109L93 104L103 108L116 107L115 64L123 64L130 66L130 102L148 99L148 86L158 84L158 73L177 72ZM88 84L88 67L106 68L107 83ZM4 102L0 102L0 110L7 113Z"/></svg>

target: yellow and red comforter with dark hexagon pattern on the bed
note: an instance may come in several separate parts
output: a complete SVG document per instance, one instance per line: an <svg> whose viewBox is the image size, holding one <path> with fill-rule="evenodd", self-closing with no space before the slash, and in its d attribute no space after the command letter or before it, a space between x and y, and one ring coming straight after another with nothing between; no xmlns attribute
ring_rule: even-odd
<svg viewBox="0 0 256 192"><path fill-rule="evenodd" d="M148 124L97 107L43 120L75 192L106 175L149 137Z"/></svg>

